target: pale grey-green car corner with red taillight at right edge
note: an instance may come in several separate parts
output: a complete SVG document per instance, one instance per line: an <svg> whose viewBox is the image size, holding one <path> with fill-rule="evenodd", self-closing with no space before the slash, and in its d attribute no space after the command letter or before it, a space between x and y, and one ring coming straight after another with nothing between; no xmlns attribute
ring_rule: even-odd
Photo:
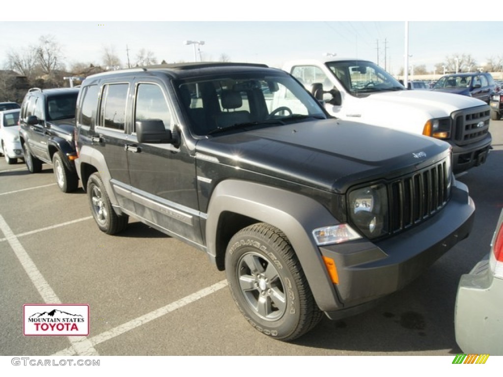
<svg viewBox="0 0 503 377"><path fill-rule="evenodd" d="M464 353L503 356L503 210L489 254L459 280L454 327Z"/></svg>

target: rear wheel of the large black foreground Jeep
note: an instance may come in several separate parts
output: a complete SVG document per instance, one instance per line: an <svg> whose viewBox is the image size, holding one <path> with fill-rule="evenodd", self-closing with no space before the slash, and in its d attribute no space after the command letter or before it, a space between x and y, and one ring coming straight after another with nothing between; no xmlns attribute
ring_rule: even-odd
<svg viewBox="0 0 503 377"><path fill-rule="evenodd" d="M87 192L91 212L98 228L107 234L122 231L127 225L128 216L119 216L115 213L99 173L93 173L89 177Z"/></svg>

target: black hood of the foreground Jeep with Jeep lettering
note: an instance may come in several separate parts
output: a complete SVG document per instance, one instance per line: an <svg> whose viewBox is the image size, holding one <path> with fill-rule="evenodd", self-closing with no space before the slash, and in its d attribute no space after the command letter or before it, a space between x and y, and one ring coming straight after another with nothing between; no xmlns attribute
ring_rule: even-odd
<svg viewBox="0 0 503 377"><path fill-rule="evenodd" d="M209 178L219 177L203 160L345 193L350 184L393 179L428 166L445 158L449 148L420 135L328 119L203 139L197 143L196 158Z"/></svg>

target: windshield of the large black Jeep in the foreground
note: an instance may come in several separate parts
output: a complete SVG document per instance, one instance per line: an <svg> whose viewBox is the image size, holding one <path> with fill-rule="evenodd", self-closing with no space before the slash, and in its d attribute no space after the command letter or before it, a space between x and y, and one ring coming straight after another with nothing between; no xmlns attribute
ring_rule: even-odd
<svg viewBox="0 0 503 377"><path fill-rule="evenodd" d="M198 136L326 118L305 88L285 74L227 74L176 86L189 127Z"/></svg>

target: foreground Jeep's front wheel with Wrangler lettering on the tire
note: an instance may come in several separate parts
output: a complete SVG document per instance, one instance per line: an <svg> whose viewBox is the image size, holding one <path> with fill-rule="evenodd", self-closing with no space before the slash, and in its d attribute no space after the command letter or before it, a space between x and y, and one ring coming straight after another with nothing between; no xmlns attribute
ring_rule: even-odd
<svg viewBox="0 0 503 377"><path fill-rule="evenodd" d="M320 321L300 262L285 234L258 223L229 242L225 270L237 307L260 332L290 341Z"/></svg>

